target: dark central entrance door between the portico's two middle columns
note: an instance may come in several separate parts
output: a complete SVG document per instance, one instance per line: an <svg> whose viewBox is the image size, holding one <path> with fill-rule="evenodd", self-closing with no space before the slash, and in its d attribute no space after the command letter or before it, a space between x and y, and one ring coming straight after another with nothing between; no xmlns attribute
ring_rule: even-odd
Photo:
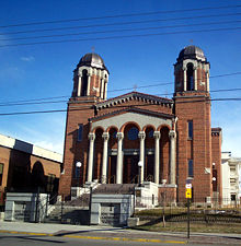
<svg viewBox="0 0 241 246"><path fill-rule="evenodd" d="M124 184L138 184L138 162L139 155L124 155Z"/></svg>

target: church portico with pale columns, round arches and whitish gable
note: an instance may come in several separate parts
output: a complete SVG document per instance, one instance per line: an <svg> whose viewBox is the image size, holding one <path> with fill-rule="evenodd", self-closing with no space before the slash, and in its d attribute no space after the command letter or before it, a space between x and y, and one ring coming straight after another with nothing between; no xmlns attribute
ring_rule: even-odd
<svg viewBox="0 0 241 246"><path fill-rule="evenodd" d="M151 180L160 184L161 179L168 178L170 184L175 185L175 131L171 130L173 122L172 116L164 117L156 113L146 115L144 112L137 114L135 110L91 119L88 181L93 180L93 171L96 169L94 165L99 165L101 174L95 175L95 179L102 184L110 183L112 165L115 168L113 183L137 183L137 164L141 161L141 183ZM101 163L96 159L94 162L96 130L102 131L102 157L97 159L102 160ZM110 141L115 141L115 144L111 147ZM116 162L110 157L113 155L116 155Z"/></svg>

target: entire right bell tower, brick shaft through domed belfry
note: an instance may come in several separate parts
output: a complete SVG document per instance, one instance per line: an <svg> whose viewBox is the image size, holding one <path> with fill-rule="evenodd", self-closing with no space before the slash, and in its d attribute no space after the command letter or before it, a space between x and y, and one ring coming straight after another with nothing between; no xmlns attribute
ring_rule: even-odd
<svg viewBox="0 0 241 246"><path fill-rule="evenodd" d="M204 51L193 45L181 50L174 65L180 200L185 198L186 178L193 179L195 201L213 196L209 68Z"/></svg>

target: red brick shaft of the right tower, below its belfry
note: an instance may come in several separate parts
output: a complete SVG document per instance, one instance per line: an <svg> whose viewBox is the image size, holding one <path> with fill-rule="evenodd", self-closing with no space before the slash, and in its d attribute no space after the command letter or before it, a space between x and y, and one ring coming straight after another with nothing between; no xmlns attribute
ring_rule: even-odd
<svg viewBox="0 0 241 246"><path fill-rule="evenodd" d="M186 93L175 97L175 115L177 116L177 177L179 200L185 198L185 181L188 176L188 159L193 157L194 199L211 196L211 175L205 173L210 168L211 134L210 104L205 93ZM187 121L193 120L193 139L188 139Z"/></svg>

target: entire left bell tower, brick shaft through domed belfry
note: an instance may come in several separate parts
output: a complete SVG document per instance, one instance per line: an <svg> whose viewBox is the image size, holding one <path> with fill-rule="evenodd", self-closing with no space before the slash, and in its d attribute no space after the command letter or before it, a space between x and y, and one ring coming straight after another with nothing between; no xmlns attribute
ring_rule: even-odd
<svg viewBox="0 0 241 246"><path fill-rule="evenodd" d="M108 70L97 54L85 54L73 70L73 90L67 108L64 166L59 184L59 194L67 198L73 190L77 192L87 180L89 118L95 116L95 105L106 99L107 82Z"/></svg>

